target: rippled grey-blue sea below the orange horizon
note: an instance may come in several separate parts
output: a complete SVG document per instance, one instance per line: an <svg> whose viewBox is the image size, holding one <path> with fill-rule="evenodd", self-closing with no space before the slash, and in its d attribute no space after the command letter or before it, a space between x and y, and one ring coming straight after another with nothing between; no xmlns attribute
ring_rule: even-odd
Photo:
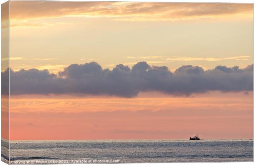
<svg viewBox="0 0 256 165"><path fill-rule="evenodd" d="M11 164L253 161L252 139L12 141L10 148Z"/></svg>

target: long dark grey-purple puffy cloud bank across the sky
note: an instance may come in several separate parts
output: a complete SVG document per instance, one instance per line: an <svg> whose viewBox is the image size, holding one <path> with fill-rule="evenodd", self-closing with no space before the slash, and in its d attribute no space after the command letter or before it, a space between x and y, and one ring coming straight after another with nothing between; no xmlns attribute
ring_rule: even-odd
<svg viewBox="0 0 256 165"><path fill-rule="evenodd" d="M1 73L7 85L8 71ZM253 90L253 65L240 69L216 66L204 71L199 66L181 66L174 73L166 66L139 62L132 68L123 64L113 70L96 62L72 64L58 74L48 70L10 71L11 94L92 94L136 97L139 92L158 91L189 96L207 91L239 92ZM7 94L7 89L2 89Z"/></svg>

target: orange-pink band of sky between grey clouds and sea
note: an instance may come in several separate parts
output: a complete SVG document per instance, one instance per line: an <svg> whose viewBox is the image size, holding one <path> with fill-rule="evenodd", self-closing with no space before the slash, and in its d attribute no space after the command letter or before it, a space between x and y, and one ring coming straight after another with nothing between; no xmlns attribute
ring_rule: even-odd
<svg viewBox="0 0 256 165"><path fill-rule="evenodd" d="M192 97L13 96L11 140L252 138L253 97L210 92Z"/></svg>

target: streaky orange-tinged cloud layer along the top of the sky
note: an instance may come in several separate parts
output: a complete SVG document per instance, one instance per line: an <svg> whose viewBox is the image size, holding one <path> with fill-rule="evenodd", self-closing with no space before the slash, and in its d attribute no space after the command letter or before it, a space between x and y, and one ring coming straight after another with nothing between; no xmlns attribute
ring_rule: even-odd
<svg viewBox="0 0 256 165"><path fill-rule="evenodd" d="M11 7L10 18L14 20L94 16L117 21L156 21L253 16L252 3L12 1Z"/></svg>

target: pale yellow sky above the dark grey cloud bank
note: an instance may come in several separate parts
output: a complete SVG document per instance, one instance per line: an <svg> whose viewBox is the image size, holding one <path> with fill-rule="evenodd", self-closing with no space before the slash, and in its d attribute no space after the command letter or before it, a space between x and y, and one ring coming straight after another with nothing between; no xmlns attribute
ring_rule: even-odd
<svg viewBox="0 0 256 165"><path fill-rule="evenodd" d="M244 68L253 57L252 4L12 1L10 27L14 70L90 61Z"/></svg>

